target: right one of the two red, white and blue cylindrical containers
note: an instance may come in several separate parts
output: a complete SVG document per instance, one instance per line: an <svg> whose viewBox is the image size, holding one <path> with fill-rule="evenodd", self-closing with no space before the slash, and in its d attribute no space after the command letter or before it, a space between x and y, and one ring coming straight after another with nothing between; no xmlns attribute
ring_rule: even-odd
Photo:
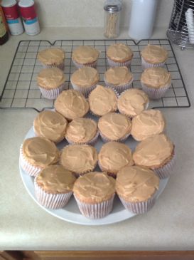
<svg viewBox="0 0 194 260"><path fill-rule="evenodd" d="M40 26L34 6L34 1L20 0L18 2L18 6L26 34L33 36L40 33Z"/></svg>

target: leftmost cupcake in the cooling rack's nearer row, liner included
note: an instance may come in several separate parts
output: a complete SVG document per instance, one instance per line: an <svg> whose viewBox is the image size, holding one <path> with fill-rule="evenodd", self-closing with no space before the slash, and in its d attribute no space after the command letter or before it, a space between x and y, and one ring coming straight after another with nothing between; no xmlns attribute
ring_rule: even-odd
<svg viewBox="0 0 194 260"><path fill-rule="evenodd" d="M44 68L37 83L44 98L55 99L65 89L65 75L59 68Z"/></svg>

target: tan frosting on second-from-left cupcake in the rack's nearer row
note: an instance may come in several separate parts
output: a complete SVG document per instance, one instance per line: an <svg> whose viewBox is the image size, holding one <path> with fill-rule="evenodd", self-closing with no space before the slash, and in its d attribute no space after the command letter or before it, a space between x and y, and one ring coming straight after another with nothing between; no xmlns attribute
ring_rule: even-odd
<svg viewBox="0 0 194 260"><path fill-rule="evenodd" d="M80 88L90 88L99 82L99 73L95 68L83 67L72 73L70 80Z"/></svg>

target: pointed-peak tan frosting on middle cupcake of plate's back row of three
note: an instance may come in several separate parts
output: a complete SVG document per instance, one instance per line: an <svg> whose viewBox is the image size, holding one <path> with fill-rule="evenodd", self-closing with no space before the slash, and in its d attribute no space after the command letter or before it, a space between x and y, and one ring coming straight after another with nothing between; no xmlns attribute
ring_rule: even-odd
<svg viewBox="0 0 194 260"><path fill-rule="evenodd" d="M92 90L88 98L90 110L95 115L105 115L117 110L117 95L111 88L104 88L102 85Z"/></svg>

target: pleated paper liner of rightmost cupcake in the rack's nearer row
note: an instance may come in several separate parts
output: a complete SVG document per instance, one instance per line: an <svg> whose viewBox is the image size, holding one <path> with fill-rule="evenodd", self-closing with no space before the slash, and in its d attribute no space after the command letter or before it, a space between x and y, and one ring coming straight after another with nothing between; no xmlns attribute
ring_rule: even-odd
<svg viewBox="0 0 194 260"><path fill-rule="evenodd" d="M162 98L165 95L168 88L171 87L171 83L168 85L164 85L161 88L149 88L144 83L141 83L141 87L144 90L144 92L146 92L149 95L149 98L158 99Z"/></svg>

